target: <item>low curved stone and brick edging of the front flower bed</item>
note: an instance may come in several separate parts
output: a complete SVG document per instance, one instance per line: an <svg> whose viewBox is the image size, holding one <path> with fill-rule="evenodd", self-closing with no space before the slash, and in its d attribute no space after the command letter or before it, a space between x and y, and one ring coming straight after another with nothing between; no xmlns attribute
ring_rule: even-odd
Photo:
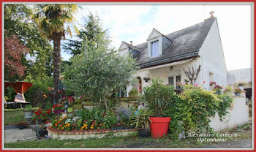
<svg viewBox="0 0 256 152"><path fill-rule="evenodd" d="M81 140L81 139L89 139L89 138L102 138L108 135L109 133L113 133L114 137L127 136L129 134L133 134L138 132L138 129L119 129L111 130L111 129L99 129L99 130L72 130L72 131L61 131L53 128L47 128L48 136L51 139L59 139L59 140Z"/></svg>

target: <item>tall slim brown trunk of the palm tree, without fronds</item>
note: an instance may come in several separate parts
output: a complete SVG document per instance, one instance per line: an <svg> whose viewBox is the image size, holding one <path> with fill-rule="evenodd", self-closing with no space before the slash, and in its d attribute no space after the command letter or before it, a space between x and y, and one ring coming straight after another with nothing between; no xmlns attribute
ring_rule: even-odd
<svg viewBox="0 0 256 152"><path fill-rule="evenodd" d="M53 40L53 104L59 100L59 75L61 62L61 38Z"/></svg>

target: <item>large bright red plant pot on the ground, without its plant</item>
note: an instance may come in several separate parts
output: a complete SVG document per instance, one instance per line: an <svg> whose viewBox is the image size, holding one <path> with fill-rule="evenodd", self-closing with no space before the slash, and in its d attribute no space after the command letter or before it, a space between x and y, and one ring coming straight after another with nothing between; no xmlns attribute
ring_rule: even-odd
<svg viewBox="0 0 256 152"><path fill-rule="evenodd" d="M151 117L150 130L153 138L167 135L170 123L170 117Z"/></svg>

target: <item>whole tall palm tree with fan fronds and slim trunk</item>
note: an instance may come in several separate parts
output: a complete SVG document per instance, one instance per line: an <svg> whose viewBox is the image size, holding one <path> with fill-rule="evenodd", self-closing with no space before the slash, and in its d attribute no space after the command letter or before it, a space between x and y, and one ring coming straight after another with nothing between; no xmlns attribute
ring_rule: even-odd
<svg viewBox="0 0 256 152"><path fill-rule="evenodd" d="M65 38L66 33L72 37L70 24L73 24L73 28L79 33L73 23L75 20L73 14L78 11L78 6L75 4L39 4L36 10L34 20L42 36L50 41L53 40L53 103L56 103L59 99L61 39Z"/></svg>

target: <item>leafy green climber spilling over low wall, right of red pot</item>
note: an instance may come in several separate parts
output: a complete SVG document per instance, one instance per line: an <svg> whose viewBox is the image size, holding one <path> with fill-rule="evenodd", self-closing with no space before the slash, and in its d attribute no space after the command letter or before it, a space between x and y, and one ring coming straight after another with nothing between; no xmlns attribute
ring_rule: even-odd
<svg viewBox="0 0 256 152"><path fill-rule="evenodd" d="M217 96L211 91L200 88L185 89L183 94L176 96L176 102L166 112L172 118L169 136L176 140L183 130L186 133L212 132L209 118L219 113L222 121L229 113L228 108L232 102L233 99L230 96Z"/></svg>

